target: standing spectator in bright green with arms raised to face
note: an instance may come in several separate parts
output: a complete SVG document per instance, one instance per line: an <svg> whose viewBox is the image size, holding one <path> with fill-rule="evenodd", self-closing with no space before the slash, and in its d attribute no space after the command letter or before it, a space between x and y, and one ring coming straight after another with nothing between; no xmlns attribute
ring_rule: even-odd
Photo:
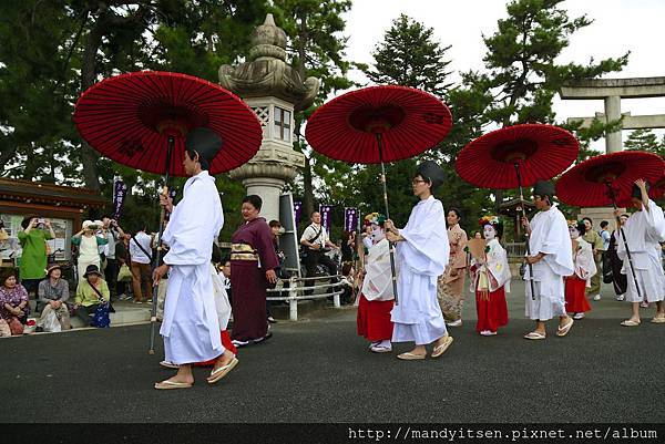
<svg viewBox="0 0 665 444"><path fill-rule="evenodd" d="M34 292L37 297L39 282L47 276L47 240L55 238L55 234L51 220L34 216L23 218L21 228L17 236L23 249L19 276L28 295Z"/></svg>

